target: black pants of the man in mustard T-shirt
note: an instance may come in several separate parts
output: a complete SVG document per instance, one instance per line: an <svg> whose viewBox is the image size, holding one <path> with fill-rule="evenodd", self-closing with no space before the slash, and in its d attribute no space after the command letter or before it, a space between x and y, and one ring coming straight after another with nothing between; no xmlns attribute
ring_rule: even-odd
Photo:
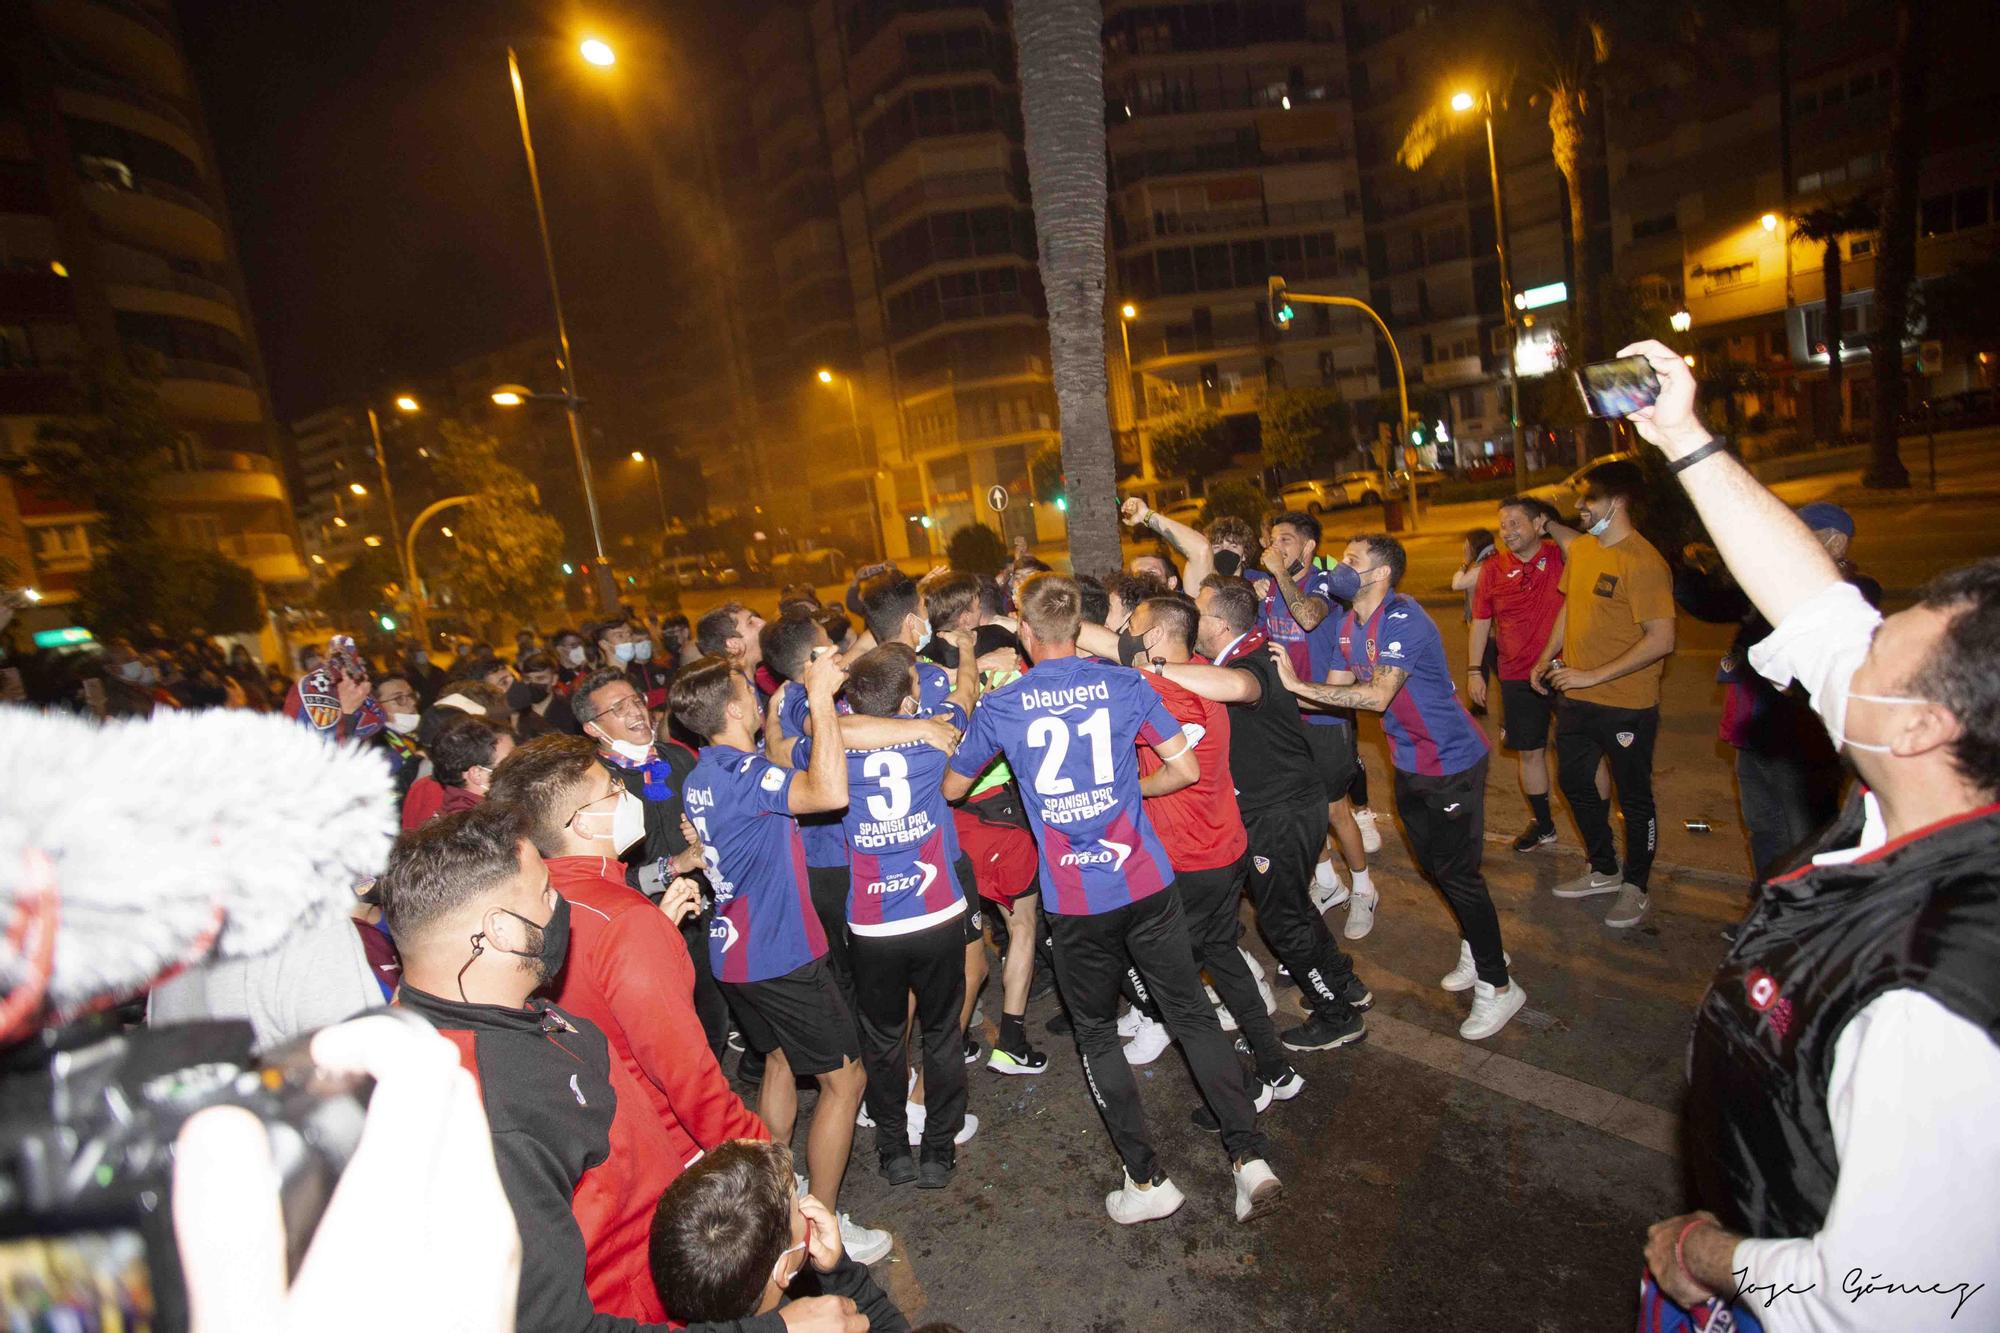
<svg viewBox="0 0 2000 1333"><path fill-rule="evenodd" d="M1598 795L1598 757L1612 767L1618 809L1626 817L1624 883L1640 893L1660 847L1660 819L1652 805L1652 743L1660 735L1660 709L1608 709L1564 699L1556 705L1556 781L1576 813L1590 869L1618 873L1610 803Z"/></svg>

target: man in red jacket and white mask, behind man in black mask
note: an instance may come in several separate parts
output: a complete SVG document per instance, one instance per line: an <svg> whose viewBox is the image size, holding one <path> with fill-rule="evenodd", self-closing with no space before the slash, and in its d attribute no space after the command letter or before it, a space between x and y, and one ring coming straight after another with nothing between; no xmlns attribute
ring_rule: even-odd
<svg viewBox="0 0 2000 1333"><path fill-rule="evenodd" d="M694 881L674 881L662 907L626 885L618 851L644 833L644 815L596 747L582 737L530 741L494 773L490 799L522 815L550 885L570 905L568 967L550 999L604 1031L612 1063L636 1089L636 1097L620 1093L618 1119L658 1121L664 1133L666 1161L650 1163L654 1197L718 1143L770 1139L730 1091L694 1015L694 963L668 911L698 907ZM650 1209L620 1219L620 1235L592 1247L588 1277L600 1311L660 1317L646 1263L650 1225ZM626 1291L634 1307L624 1305Z"/></svg>

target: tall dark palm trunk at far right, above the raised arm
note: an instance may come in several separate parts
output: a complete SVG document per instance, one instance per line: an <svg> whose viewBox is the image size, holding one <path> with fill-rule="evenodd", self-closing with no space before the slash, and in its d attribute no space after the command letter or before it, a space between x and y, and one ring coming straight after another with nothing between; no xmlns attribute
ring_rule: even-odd
<svg viewBox="0 0 2000 1333"><path fill-rule="evenodd" d="M1916 168L1924 154L1924 12L1928 0L1896 0L1896 88L1888 108L1888 200L1876 256L1874 438L1864 486L1908 486L1896 426L1902 418L1902 334L1916 276Z"/></svg>

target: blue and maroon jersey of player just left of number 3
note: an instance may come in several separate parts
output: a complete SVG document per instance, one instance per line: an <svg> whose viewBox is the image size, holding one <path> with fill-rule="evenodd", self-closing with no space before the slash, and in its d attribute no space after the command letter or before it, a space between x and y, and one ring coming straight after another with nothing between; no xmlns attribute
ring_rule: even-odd
<svg viewBox="0 0 2000 1333"><path fill-rule="evenodd" d="M708 965L718 981L770 981L826 953L792 819L796 777L762 755L708 745L680 791L716 893Z"/></svg>

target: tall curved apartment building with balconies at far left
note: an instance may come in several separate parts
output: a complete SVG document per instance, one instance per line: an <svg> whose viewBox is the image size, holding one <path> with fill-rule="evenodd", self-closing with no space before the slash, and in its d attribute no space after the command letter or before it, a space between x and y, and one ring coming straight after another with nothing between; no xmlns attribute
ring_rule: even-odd
<svg viewBox="0 0 2000 1333"><path fill-rule="evenodd" d="M180 430L160 532L266 590L306 578L216 156L164 0L0 12L0 456L106 356L156 378ZM18 570L66 622L98 514L0 478Z"/></svg>

